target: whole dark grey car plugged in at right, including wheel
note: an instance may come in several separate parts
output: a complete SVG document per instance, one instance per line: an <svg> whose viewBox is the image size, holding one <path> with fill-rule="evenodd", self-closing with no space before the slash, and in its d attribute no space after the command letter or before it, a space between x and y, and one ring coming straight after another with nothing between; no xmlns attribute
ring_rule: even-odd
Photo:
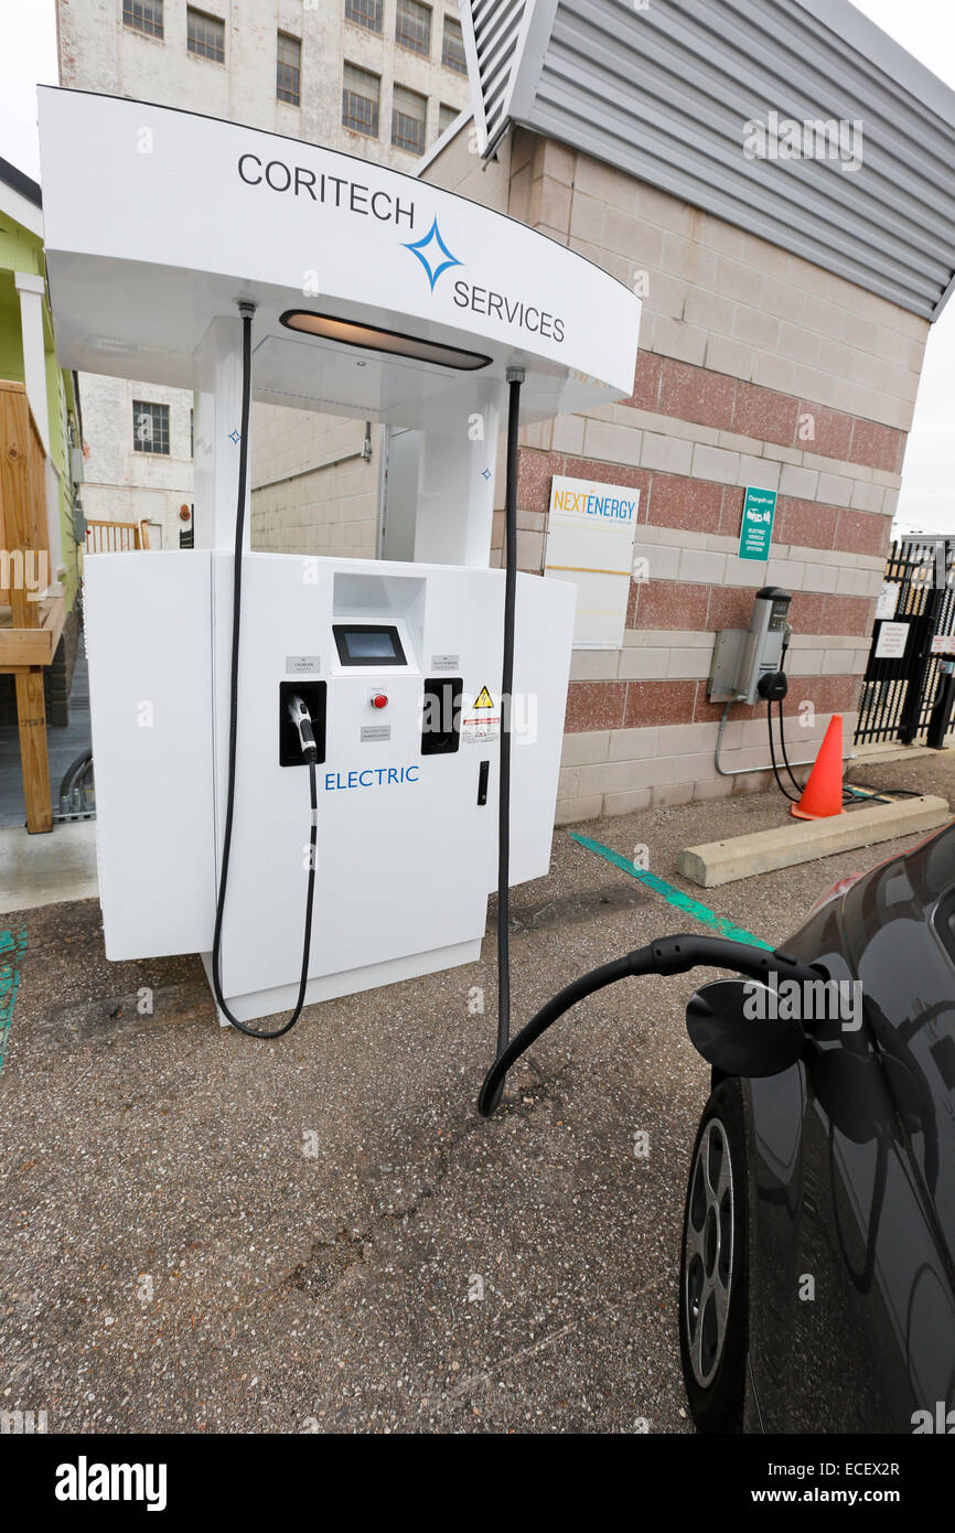
<svg viewBox="0 0 955 1533"><path fill-rule="evenodd" d="M693 1416L955 1433L955 825L843 880L782 946L840 1007L782 1073L713 1072L681 1265Z"/></svg>

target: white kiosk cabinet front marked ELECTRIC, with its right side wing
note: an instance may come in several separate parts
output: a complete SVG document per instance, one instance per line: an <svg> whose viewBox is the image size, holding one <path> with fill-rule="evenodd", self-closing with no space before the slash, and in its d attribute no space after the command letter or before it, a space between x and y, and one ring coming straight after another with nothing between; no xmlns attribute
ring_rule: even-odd
<svg viewBox="0 0 955 1533"><path fill-rule="evenodd" d="M308 579L316 566L317 581ZM336 573L339 579L353 575L354 584L333 615ZM388 607L376 593L383 589ZM228 555L216 555L215 590L216 607L228 607ZM222 955L227 998L288 984L300 966L308 774L277 763L277 690L290 653L320 655L320 675L328 682L310 973L339 977L331 993L343 993L356 987L350 970L483 937L487 894L497 886L498 744L461 742L454 754L422 756L420 698L438 655L458 658L466 704L483 687L500 696L503 590L500 570L369 567L287 555L247 560L236 831ZM402 622L408 668L345 670L331 636L333 621L345 613ZM537 576L520 578L515 690L529 694L530 728L514 750L515 883L549 869L572 615L572 592ZM228 624L221 621L219 806L225 796L227 675ZM380 711L369 704L377 688L388 696ZM363 742L362 727L379 724L391 737ZM491 774L481 806L477 789L484 759ZM412 780L379 782L389 770L395 776L411 770ZM372 780L363 785L362 776Z"/></svg>

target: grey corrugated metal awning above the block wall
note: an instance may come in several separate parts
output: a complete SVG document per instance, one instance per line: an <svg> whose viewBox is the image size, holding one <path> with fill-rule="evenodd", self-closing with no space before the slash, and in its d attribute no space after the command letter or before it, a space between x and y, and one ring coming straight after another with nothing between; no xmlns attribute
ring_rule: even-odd
<svg viewBox="0 0 955 1533"><path fill-rule="evenodd" d="M955 92L848 0L463 0L461 17L484 155L520 123L938 316ZM777 153L748 158L753 123ZM843 123L846 153L788 158L773 129L789 123Z"/></svg>

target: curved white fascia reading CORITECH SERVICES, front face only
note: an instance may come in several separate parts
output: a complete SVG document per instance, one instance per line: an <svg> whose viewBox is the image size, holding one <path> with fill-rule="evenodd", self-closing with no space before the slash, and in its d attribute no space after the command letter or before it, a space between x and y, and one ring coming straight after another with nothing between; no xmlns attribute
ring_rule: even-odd
<svg viewBox="0 0 955 1533"><path fill-rule="evenodd" d="M40 129L54 253L235 274L288 302L374 293L394 328L454 327L632 386L635 294L501 213L350 155L115 97L41 87Z"/></svg>

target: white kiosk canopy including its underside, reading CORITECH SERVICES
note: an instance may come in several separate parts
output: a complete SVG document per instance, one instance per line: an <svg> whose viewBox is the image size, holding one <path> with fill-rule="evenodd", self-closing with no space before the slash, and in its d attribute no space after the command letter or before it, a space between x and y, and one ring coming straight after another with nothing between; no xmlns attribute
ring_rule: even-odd
<svg viewBox="0 0 955 1533"><path fill-rule="evenodd" d="M192 388L210 322L250 299L254 397L271 403L422 426L486 399L509 366L526 368L529 419L632 391L635 294L452 192L219 118L55 87L40 89L40 147L64 366ZM288 328L302 313L331 336ZM422 343L454 350L434 362Z"/></svg>

